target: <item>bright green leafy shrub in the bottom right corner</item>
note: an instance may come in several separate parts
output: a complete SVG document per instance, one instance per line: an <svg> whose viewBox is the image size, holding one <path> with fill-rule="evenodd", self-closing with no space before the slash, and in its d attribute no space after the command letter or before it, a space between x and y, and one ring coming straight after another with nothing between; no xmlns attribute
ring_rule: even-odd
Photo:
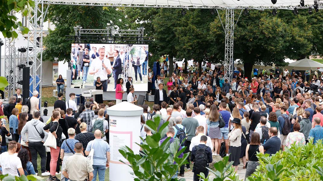
<svg viewBox="0 0 323 181"><path fill-rule="evenodd" d="M318 141L307 145L295 145L281 150L273 156L258 154L260 165L256 172L247 178L249 181L309 181L323 180L323 144Z"/></svg>

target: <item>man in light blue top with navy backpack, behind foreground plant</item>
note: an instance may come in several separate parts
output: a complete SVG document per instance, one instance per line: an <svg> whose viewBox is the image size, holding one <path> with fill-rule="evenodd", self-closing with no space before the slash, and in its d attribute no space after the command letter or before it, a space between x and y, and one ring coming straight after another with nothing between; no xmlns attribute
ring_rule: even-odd
<svg viewBox="0 0 323 181"><path fill-rule="evenodd" d="M181 116L177 116L175 118L176 120L176 125L173 126L172 128L174 128L175 134L174 134L174 139L177 137L180 140L181 146L182 148L184 148L185 146L185 140L186 140L186 128L185 126L182 125L182 117ZM184 176L184 165L181 166L180 169L180 176Z"/></svg>

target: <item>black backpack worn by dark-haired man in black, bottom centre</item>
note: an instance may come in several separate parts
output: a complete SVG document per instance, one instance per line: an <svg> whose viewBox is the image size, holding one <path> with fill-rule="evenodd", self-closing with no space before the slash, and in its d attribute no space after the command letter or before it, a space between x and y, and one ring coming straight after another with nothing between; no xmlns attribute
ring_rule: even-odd
<svg viewBox="0 0 323 181"><path fill-rule="evenodd" d="M205 149L207 146L204 146L203 148L200 148L199 146L195 146L196 153L195 153L195 159L194 159L194 170L198 173L204 172L206 170L206 166L208 163L208 158L205 153Z"/></svg>

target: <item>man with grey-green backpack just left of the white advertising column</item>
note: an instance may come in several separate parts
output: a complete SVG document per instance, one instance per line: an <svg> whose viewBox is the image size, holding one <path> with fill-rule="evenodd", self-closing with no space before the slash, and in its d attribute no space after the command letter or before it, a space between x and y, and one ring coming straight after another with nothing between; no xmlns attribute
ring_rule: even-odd
<svg viewBox="0 0 323 181"><path fill-rule="evenodd" d="M102 133L101 138L107 140L105 133L109 131L109 123L104 119L104 109L99 109L98 117L92 120L92 133L99 129Z"/></svg>

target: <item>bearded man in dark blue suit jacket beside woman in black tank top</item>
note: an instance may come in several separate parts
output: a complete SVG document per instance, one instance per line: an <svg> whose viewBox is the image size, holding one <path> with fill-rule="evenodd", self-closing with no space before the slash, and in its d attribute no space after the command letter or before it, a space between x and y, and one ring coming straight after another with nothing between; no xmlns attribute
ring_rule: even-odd
<svg viewBox="0 0 323 181"><path fill-rule="evenodd" d="M269 139L263 145L265 154L268 153L270 156L276 154L280 149L281 141L280 138L277 137L278 131L276 127L271 127L268 130Z"/></svg>

